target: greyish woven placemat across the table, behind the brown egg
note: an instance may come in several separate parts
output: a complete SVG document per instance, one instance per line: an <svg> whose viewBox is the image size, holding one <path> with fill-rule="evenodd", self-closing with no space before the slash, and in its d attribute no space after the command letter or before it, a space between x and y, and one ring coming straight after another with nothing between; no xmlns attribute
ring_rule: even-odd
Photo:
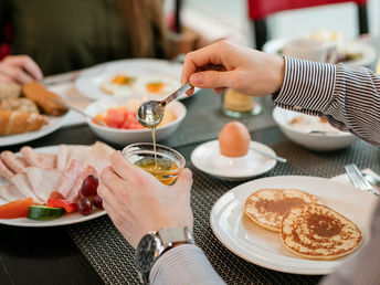
<svg viewBox="0 0 380 285"><path fill-rule="evenodd" d="M250 131L275 126L276 123L272 117L274 105L271 97L255 98L255 101L262 105L262 113L245 118L231 118L222 112L222 97L210 89L202 89L193 97L182 101L188 115L175 134L160 144L179 147L214 139L222 127L231 120L240 120Z"/></svg>

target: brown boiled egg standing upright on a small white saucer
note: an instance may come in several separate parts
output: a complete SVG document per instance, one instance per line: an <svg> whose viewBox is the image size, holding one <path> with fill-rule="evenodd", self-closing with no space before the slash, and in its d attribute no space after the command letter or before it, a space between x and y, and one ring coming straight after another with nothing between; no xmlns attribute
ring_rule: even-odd
<svg viewBox="0 0 380 285"><path fill-rule="evenodd" d="M240 122L230 122L219 135L220 152L226 157L242 157L249 152L251 136Z"/></svg>

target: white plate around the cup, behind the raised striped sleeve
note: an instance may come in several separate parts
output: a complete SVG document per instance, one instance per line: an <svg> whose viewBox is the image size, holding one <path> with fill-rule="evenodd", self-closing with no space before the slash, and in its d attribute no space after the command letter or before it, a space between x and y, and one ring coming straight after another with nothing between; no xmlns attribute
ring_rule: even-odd
<svg viewBox="0 0 380 285"><path fill-rule="evenodd" d="M292 39L274 39L267 41L264 46L263 51L271 54L281 55L281 50L285 45L286 42L291 41ZM345 40L342 44L346 51L360 51L362 52L362 56L358 60L353 61L346 61L342 62L349 66L367 66L373 63L377 56L377 52L374 48L363 41L360 40Z"/></svg>

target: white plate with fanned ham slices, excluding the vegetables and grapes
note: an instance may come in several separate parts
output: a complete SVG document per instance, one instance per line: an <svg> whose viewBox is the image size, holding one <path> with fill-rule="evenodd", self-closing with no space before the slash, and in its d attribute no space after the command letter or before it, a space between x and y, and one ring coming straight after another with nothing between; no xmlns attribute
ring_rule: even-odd
<svg viewBox="0 0 380 285"><path fill-rule="evenodd" d="M30 198L34 208L43 208L52 198L76 204L81 199L83 181L91 175L99 177L102 170L109 165L113 151L112 147L99 141L93 146L60 145L34 149L25 146L18 154L4 150L0 154L0 208L10 202L31 200ZM73 211L53 220L33 220L24 214L17 219L0 219L0 224L57 226L88 221L104 214L106 212L103 209L94 207L86 215Z"/></svg>

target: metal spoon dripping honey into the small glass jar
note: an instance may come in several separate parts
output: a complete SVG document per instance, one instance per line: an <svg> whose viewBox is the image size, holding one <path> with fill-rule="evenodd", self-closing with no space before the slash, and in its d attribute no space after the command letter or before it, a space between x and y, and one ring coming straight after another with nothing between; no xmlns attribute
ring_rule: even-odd
<svg viewBox="0 0 380 285"><path fill-rule="evenodd" d="M165 106L191 87L192 86L187 83L162 101L147 101L142 103L137 112L137 120L147 128L156 127L162 120Z"/></svg>

